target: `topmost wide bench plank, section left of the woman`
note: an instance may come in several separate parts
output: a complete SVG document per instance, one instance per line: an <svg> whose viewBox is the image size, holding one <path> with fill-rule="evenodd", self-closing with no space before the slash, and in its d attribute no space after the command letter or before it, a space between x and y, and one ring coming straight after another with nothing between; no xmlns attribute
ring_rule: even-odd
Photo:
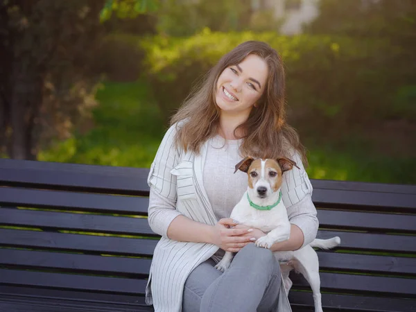
<svg viewBox="0 0 416 312"><path fill-rule="evenodd" d="M36 185L58 189L148 195L148 168L33 162L0 159L0 185Z"/></svg>

